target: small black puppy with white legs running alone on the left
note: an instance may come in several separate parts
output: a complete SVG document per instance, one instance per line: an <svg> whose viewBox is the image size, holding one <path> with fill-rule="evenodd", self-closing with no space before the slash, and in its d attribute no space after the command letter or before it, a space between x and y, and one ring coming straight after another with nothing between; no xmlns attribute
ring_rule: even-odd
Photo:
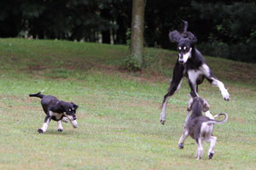
<svg viewBox="0 0 256 170"><path fill-rule="evenodd" d="M77 116L75 114L76 110L79 108L79 105L75 105L73 102L59 100L51 95L41 94L41 92L38 94L29 94L29 96L38 97L41 99L41 105L44 113L46 114L44 125L43 127L38 128L38 133L45 133L51 120L58 122L59 132L63 131L61 120L63 122L68 122L69 120L74 128L78 127L78 122L76 121Z"/></svg>

